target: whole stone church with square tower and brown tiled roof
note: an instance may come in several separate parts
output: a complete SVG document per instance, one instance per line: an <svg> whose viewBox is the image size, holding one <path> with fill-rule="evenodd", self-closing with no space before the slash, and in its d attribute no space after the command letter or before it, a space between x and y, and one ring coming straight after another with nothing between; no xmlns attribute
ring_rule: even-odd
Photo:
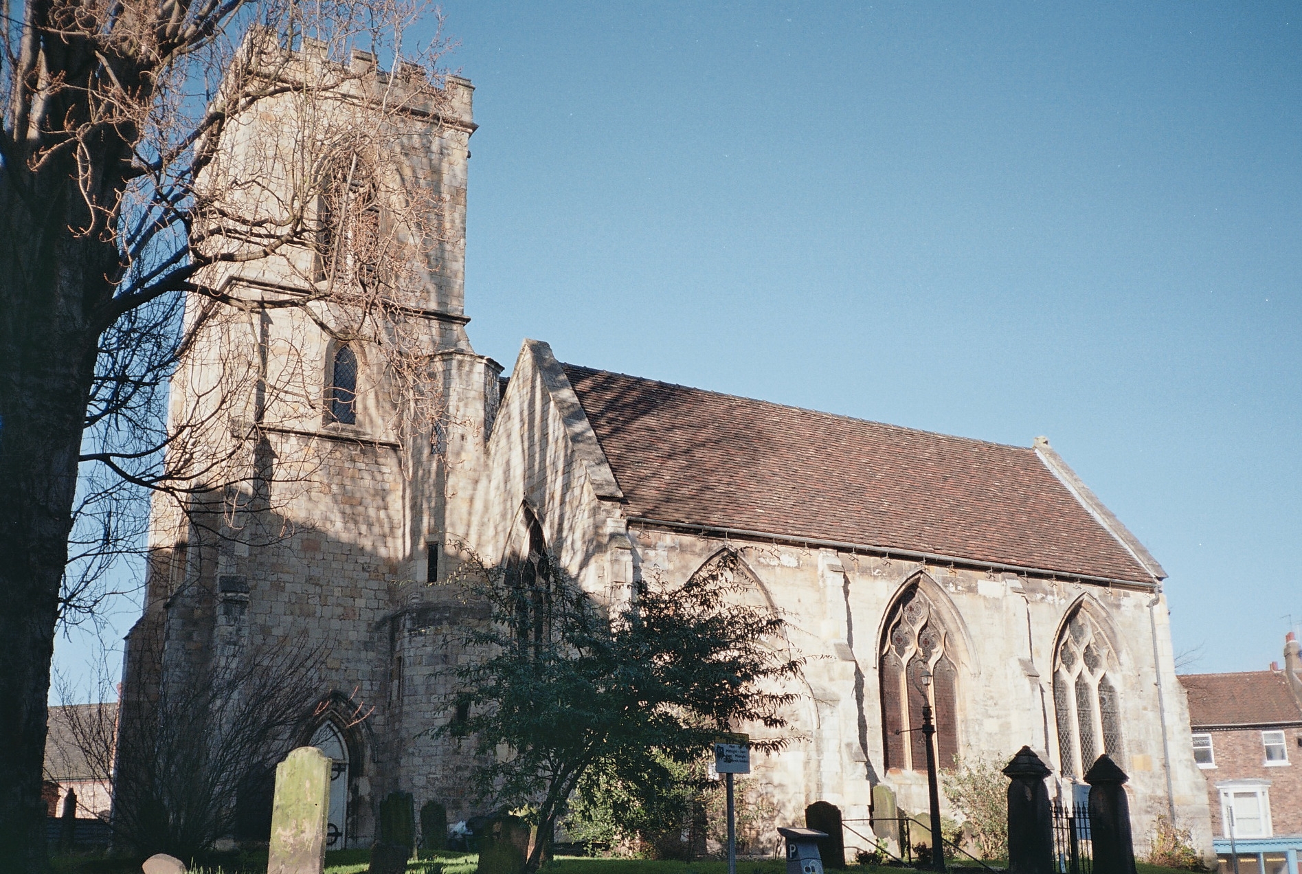
<svg viewBox="0 0 1302 874"><path fill-rule="evenodd" d="M445 578L464 547L496 561L540 544L603 600L727 554L809 656L788 714L796 739L747 789L776 825L819 801L863 832L893 805L924 810L911 729L926 699L943 767L1030 745L1070 802L1108 753L1131 778L1137 845L1163 815L1210 849L1165 572L1048 440L984 443L671 386L561 363L534 340L503 379L465 330L471 86L449 77L445 96L401 139L448 223L415 271L428 293L406 328L423 331L437 421L395 416L383 350L348 339L349 313L273 306L318 268L225 276L256 305L204 323L172 413L243 399L221 406L204 447L253 473L187 517L155 508L124 707L150 699L150 654L184 673L320 642L319 706L294 740L345 765L335 845L366 847L395 789L453 819L482 813L466 757L422 735L454 718L440 677L469 656L449 632L474 610L422 584ZM255 120L247 137L280 122ZM187 318L204 313L193 301ZM256 475L268 466L273 494Z"/></svg>

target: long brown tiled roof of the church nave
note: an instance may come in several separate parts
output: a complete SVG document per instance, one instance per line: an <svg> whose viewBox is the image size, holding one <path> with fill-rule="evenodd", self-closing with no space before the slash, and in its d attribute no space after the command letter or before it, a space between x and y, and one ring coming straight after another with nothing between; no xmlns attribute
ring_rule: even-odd
<svg viewBox="0 0 1302 874"><path fill-rule="evenodd" d="M629 516L1152 580L1031 448L562 366Z"/></svg>

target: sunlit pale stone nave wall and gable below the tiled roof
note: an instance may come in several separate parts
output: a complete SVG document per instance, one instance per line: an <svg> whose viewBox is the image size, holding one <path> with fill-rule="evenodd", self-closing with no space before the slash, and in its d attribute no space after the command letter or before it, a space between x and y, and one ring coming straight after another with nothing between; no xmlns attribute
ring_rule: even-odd
<svg viewBox="0 0 1302 874"><path fill-rule="evenodd" d="M604 485L604 456L585 448L582 422L574 421L582 410L566 408L568 384L549 375L549 362L544 344L526 343L490 445L475 541L504 548L519 503L529 500L551 548L589 591L605 598L637 574L681 581L720 550L736 550L755 578L756 603L784 611L793 647L809 658L799 702L789 714L790 744L760 759L750 782L751 792L768 796L776 821L799 822L805 806L819 800L836 804L849 819L867 818L875 782L891 785L901 808L926 809L924 774L881 768L878 681L887 613L902 587L922 578L944 611L947 650L958 664L960 757L1003 763L1027 744L1057 770L1055 646L1069 613L1087 602L1116 641L1118 663L1109 677L1121 705L1117 758L1130 775L1137 845L1147 844L1155 817L1173 806L1177 823L1210 852L1206 792L1189 753L1187 712L1160 594L711 538L622 520L613 477ZM1070 787L1062 793L1070 796Z"/></svg>

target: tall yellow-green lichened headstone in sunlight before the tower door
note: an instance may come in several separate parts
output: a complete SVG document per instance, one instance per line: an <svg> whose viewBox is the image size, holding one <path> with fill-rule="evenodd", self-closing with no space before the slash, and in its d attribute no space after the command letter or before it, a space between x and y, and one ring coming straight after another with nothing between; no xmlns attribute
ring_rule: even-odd
<svg viewBox="0 0 1302 874"><path fill-rule="evenodd" d="M322 874L329 817L329 757L299 746L276 766L267 874Z"/></svg>

